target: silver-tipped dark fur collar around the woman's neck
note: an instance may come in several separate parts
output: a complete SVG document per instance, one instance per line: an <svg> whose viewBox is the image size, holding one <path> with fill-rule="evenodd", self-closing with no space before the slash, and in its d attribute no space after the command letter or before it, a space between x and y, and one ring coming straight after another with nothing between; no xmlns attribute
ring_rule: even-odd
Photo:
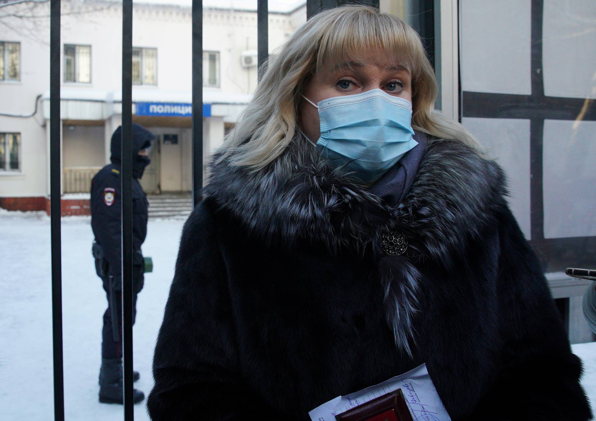
<svg viewBox="0 0 596 421"><path fill-rule="evenodd" d="M501 194L507 188L495 162L459 142L433 139L409 193L391 208L346 169L330 165L300 131L284 154L260 172L227 161L212 163L204 190L206 199L269 242L291 246L309 239L334 253L343 247L379 253L383 231L397 228L408 237L408 256L442 259L448 266L464 252L467 239L479 236L491 220Z"/></svg>

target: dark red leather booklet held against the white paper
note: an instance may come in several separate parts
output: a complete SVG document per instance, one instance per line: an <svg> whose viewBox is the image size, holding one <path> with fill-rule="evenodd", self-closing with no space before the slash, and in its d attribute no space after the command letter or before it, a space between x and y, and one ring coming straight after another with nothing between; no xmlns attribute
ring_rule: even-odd
<svg viewBox="0 0 596 421"><path fill-rule="evenodd" d="M403 397L402 389L374 398L336 415L337 421L414 421Z"/></svg>

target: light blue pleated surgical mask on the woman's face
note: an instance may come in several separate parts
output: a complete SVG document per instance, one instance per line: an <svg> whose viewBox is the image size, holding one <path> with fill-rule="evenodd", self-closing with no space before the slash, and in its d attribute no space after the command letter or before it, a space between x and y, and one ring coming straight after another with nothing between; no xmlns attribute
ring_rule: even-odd
<svg viewBox="0 0 596 421"><path fill-rule="evenodd" d="M412 138L412 104L382 89L328 98L318 104L321 137L316 146L334 165L362 182L374 182L418 142Z"/></svg>

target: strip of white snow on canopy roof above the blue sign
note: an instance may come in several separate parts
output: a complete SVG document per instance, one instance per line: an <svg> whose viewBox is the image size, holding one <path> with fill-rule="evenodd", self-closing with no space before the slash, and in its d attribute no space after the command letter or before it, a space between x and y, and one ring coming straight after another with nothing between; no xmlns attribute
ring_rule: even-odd
<svg viewBox="0 0 596 421"><path fill-rule="evenodd" d="M122 101L121 91L105 91L92 88L61 88L60 97L62 100L73 101L101 101L116 102ZM43 94L43 100L49 100L49 91ZM236 92L209 91L203 89L204 104L248 104L252 98L251 94L238 94ZM168 91L166 89L135 89L132 88L132 102L153 102L153 103L187 103L193 102L190 91Z"/></svg>

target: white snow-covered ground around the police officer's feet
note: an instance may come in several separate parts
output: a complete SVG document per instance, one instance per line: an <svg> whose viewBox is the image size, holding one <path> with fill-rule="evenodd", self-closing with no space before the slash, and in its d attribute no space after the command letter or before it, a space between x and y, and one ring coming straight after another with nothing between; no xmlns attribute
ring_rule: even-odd
<svg viewBox="0 0 596 421"><path fill-rule="evenodd" d="M134 327L135 387L151 390L151 358L172 279L183 221L150 220L145 256L153 273L145 276ZM95 275L89 218L62 223L64 404L66 419L117 420L121 405L100 404L102 315L105 293ZM583 385L596 402L596 343L574 345L585 366ZM49 218L44 213L0 210L0 418L52 420L52 308ZM135 420L148 420L144 403Z"/></svg>

